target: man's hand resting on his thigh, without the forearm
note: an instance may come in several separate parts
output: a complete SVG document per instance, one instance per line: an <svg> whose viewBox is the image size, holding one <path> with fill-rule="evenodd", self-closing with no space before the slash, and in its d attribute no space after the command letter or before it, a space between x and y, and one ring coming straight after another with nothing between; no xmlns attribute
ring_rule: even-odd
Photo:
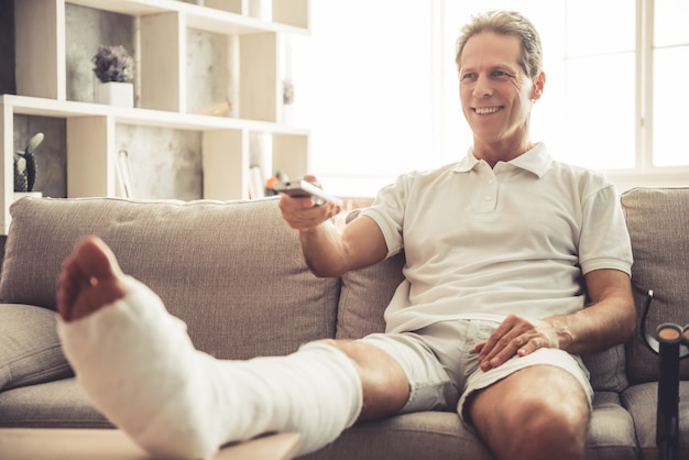
<svg viewBox="0 0 689 460"><path fill-rule="evenodd" d="M547 320L531 320L510 315L485 342L477 344L482 371L497 368L515 354L525 357L539 348L565 348L571 339Z"/></svg>

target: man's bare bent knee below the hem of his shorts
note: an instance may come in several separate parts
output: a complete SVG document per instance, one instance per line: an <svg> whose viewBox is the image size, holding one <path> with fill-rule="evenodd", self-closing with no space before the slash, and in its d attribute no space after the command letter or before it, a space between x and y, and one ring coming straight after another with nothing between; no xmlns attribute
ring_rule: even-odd
<svg viewBox="0 0 689 460"><path fill-rule="evenodd" d="M481 390L469 404L471 421L500 459L584 458L589 403L567 371L523 369Z"/></svg>

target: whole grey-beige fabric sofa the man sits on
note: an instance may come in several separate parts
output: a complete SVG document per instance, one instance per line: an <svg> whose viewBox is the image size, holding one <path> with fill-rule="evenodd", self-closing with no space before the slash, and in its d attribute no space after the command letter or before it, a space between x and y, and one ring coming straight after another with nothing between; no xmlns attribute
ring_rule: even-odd
<svg viewBox="0 0 689 460"><path fill-rule="evenodd" d="M689 189L634 189L622 204L639 308L647 289L656 293L650 329L689 322ZM342 278L316 278L274 198L25 198L11 212L0 280L0 427L111 427L84 397L55 335L56 278L81 236L100 236L123 270L188 324L197 348L223 359L284 354L308 340L382 330L404 263L398 255ZM587 458L656 459L656 357L635 337L586 361L597 391ZM689 360L682 361L681 377L687 381L680 386L679 458L689 458ZM428 412L358 424L307 458L491 454L457 415Z"/></svg>

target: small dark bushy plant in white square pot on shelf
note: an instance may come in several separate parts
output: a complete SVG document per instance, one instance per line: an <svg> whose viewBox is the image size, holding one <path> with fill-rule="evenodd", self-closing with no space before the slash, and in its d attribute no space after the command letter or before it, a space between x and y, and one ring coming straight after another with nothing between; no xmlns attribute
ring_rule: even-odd
<svg viewBox="0 0 689 460"><path fill-rule="evenodd" d="M100 84L96 88L96 101L112 106L133 107L134 59L122 45L99 46L91 59L94 73Z"/></svg>

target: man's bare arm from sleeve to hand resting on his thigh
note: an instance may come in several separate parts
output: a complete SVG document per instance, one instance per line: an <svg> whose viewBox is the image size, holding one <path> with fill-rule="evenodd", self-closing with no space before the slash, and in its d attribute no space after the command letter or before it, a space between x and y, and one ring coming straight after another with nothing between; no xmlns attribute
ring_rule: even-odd
<svg viewBox="0 0 689 460"><path fill-rule="evenodd" d="M586 282L592 302L587 308L538 321L507 317L477 347L481 369L496 368L514 354L524 357L539 348L589 353L627 340L636 327L630 276L617 270L595 270L586 275Z"/></svg>

